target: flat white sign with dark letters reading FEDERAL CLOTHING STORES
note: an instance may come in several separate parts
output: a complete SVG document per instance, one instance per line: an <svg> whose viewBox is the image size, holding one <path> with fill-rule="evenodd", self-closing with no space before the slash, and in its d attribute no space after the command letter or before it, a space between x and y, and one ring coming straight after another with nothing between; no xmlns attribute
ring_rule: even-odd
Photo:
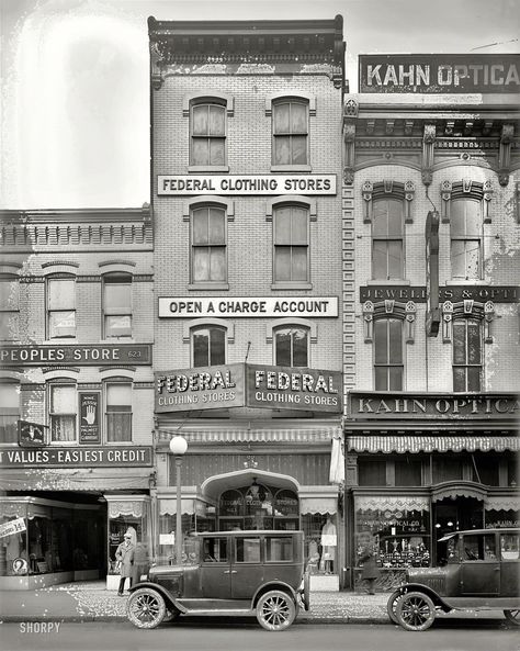
<svg viewBox="0 0 520 651"><path fill-rule="evenodd" d="M336 194L336 175L165 175L157 194Z"/></svg>

